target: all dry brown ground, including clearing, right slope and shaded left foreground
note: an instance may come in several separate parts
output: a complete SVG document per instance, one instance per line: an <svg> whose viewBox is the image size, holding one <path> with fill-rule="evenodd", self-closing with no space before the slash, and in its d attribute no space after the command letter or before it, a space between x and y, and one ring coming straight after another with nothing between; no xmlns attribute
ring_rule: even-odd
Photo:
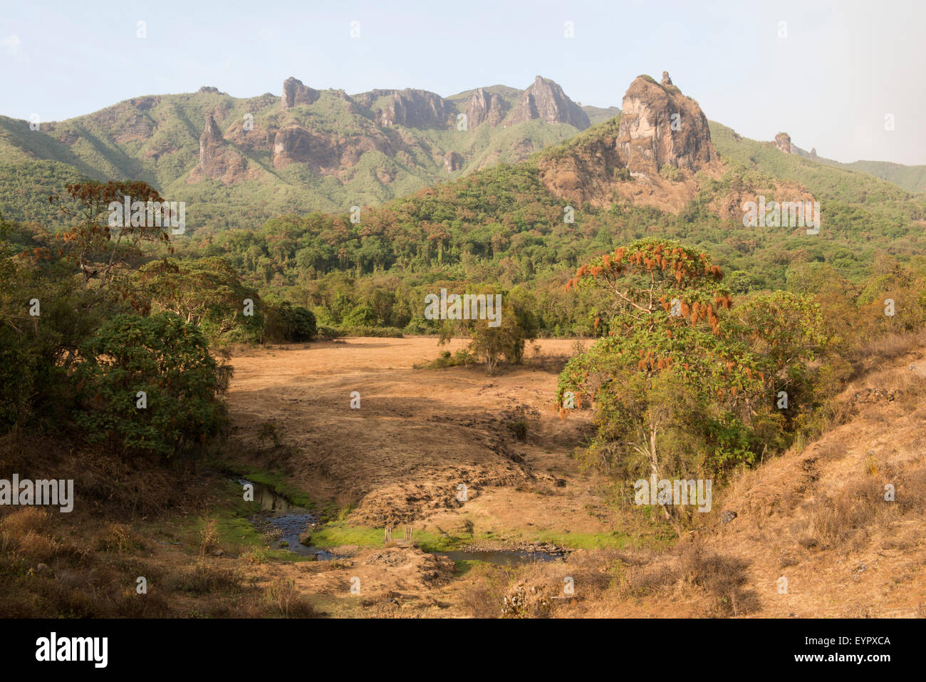
<svg viewBox="0 0 926 682"><path fill-rule="evenodd" d="M117 461L70 458L50 471L77 478L86 496L119 481L109 497L124 493L124 512L114 519L97 502L72 514L5 513L0 580L10 589L0 615L926 616L924 340L873 345L823 436L715 490L711 512L676 543L658 520L613 504L607 481L569 458L591 425L589 410L565 423L553 410L573 342L541 341L523 366L496 376L415 369L441 350L432 338L240 352L228 458L288 474L319 503L356 505L348 526L409 524L416 537L465 530L497 548L553 537L575 550L503 568L455 565L394 541L343 547L328 562L285 561L241 535L240 519L221 529L234 521L236 493L219 474L191 471L177 486L169 472L139 479ZM279 446L260 442L265 423L276 424ZM5 450L5 469L49 475L30 468L42 461L34 452ZM130 509L131 499L147 506ZM621 547L576 549L615 531Z"/></svg>

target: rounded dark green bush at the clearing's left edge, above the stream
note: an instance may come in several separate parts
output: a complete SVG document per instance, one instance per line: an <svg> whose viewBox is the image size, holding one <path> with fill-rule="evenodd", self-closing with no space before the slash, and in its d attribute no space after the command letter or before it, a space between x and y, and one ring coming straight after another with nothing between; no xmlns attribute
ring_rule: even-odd
<svg viewBox="0 0 926 682"><path fill-rule="evenodd" d="M217 366L194 324L173 313L117 315L84 344L82 356L77 423L89 442L169 457L218 435L225 418L219 394L231 368Z"/></svg>

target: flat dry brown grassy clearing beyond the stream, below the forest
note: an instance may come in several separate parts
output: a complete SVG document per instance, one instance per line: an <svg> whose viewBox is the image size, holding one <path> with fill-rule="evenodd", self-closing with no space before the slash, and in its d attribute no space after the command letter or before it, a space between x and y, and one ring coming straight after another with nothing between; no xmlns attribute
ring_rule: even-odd
<svg viewBox="0 0 926 682"><path fill-rule="evenodd" d="M275 424L281 449L291 453L285 464L294 485L319 502L356 505L356 523L440 518L463 506L466 486L467 504L485 524L556 519L574 532L604 531L584 509L594 491L579 483L569 459L591 412L576 410L564 421L555 408L558 359L569 357L571 345L539 341L525 366L494 376L478 367L415 369L443 349L464 347L459 340L440 347L430 337L236 355L233 435L259 453L261 424ZM354 392L358 409L351 408ZM523 440L517 423L526 427ZM542 510L538 491L547 493Z"/></svg>

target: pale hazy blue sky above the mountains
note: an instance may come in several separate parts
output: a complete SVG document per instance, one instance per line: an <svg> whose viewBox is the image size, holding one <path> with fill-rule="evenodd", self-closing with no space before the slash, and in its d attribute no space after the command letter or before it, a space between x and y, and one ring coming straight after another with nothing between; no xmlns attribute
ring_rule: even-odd
<svg viewBox="0 0 926 682"><path fill-rule="evenodd" d="M926 0L6 0L0 114L62 120L201 85L279 94L288 76L453 95L540 74L582 104L619 107L635 76L668 70L708 119L747 137L785 131L840 161L922 164L924 29Z"/></svg>

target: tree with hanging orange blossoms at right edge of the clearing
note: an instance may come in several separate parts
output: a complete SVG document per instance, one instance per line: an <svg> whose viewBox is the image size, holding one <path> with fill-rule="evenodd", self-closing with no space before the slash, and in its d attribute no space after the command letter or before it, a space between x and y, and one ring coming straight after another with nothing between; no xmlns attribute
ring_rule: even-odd
<svg viewBox="0 0 926 682"><path fill-rule="evenodd" d="M634 479L723 478L782 428L769 399L781 359L756 352L722 279L707 253L644 239L582 265L566 284L607 293L594 321L607 335L569 360L557 394L564 415L594 405L587 464Z"/></svg>

